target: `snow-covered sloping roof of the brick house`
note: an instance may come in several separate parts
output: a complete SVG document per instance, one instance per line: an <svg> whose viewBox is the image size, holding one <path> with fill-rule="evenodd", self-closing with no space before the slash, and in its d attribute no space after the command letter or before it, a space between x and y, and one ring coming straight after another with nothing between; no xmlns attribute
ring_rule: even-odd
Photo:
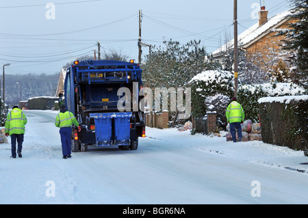
<svg viewBox="0 0 308 218"><path fill-rule="evenodd" d="M253 42L256 40L259 36L263 35L264 33L268 33L269 31L272 31L281 23L281 21L284 21L287 16L289 16L292 13L292 10L287 10L285 12L281 12L275 16L272 16L268 18L268 21L264 23L264 25L259 26L259 23L256 23L252 27L246 29L243 33L238 35L238 44L242 44L243 46ZM227 42L223 46L221 46L219 49L216 49L212 54L218 55L222 51L226 51L227 48L233 48L234 39Z"/></svg>

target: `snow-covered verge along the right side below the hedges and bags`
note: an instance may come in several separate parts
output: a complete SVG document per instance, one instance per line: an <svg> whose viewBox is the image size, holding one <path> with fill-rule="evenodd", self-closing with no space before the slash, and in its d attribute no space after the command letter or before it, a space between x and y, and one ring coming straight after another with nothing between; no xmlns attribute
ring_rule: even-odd
<svg viewBox="0 0 308 218"><path fill-rule="evenodd" d="M214 134L203 135L200 133L191 135L190 131L180 133L175 128L160 130L147 127L146 131L149 135L157 135L157 139L159 140L167 139L170 136L170 139L176 139L174 141L175 144L188 146L200 152L236 159L237 161L292 169L308 174L308 165L301 164L308 162L308 157L304 155L303 150L296 151L283 146L266 144L263 141L242 141L234 143L227 141L225 137L227 134L226 131L220 131L221 137Z"/></svg>

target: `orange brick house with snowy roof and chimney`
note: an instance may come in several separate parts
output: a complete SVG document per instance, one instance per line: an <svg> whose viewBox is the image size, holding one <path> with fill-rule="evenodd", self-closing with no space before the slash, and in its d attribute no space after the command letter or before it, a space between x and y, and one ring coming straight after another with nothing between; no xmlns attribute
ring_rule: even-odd
<svg viewBox="0 0 308 218"><path fill-rule="evenodd" d="M285 36L276 36L281 29L288 29L289 23L294 23L290 19L292 10L281 12L268 18L268 10L261 7L259 22L246 29L238 35L238 48L246 51L246 56L257 64L265 72L269 72L273 67L273 61L278 62L285 59L290 54L282 50ZM234 40L231 40L212 53L215 59L220 59L226 51L233 51Z"/></svg>

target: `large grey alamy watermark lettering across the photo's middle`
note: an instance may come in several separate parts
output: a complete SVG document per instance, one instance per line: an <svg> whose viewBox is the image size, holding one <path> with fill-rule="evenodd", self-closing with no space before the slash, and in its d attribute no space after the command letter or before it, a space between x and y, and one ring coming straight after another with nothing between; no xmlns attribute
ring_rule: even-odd
<svg viewBox="0 0 308 218"><path fill-rule="evenodd" d="M124 94L124 96L123 96ZM168 111L168 105L170 105L170 111L179 112L179 119L188 119L191 115L191 88L186 87L155 87L153 90L149 87L143 87L142 90L138 90L138 83L133 82L133 93L128 87L120 87L117 95L123 96L118 100L118 111L153 111L153 99L155 100L155 111ZM185 94L185 106L183 105ZM138 103L139 96L144 96ZM168 104L168 98L170 98L170 104ZM131 103L133 105L131 105ZM161 108L162 105L162 108ZM132 107L131 107L132 106Z"/></svg>

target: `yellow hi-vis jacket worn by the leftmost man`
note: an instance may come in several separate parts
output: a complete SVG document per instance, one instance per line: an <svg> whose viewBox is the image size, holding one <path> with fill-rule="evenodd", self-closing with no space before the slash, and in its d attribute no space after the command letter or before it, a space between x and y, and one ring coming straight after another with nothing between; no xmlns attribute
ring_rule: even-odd
<svg viewBox="0 0 308 218"><path fill-rule="evenodd" d="M25 134L25 124L27 124L25 113L19 108L14 108L6 117L5 133Z"/></svg>

